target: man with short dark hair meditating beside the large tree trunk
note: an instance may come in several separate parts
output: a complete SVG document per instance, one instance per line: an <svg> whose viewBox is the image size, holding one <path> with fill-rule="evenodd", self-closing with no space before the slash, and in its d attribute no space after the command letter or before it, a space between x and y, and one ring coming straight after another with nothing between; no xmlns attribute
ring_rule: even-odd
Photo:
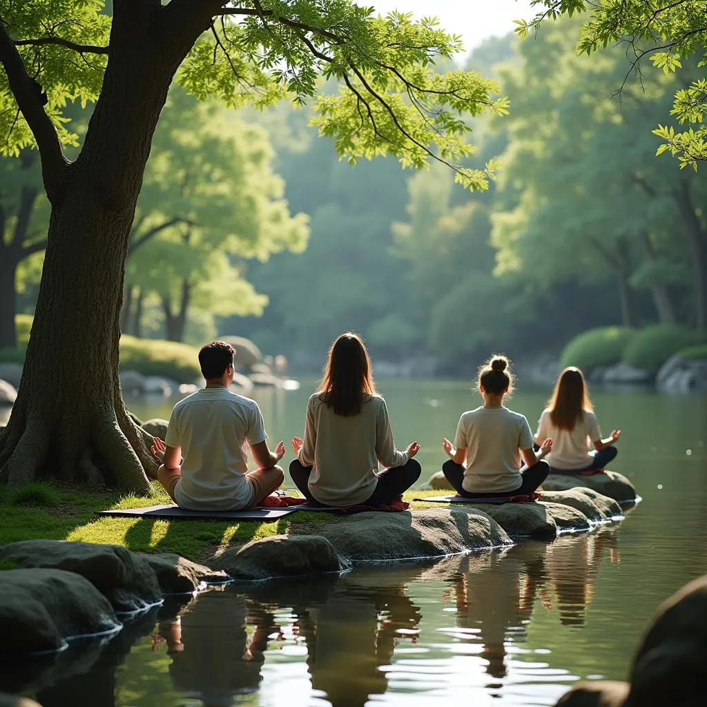
<svg viewBox="0 0 707 707"><path fill-rule="evenodd" d="M284 479L277 466L284 443L271 452L257 403L228 390L233 354L226 341L201 347L199 366L206 387L180 400L165 441L155 438L152 451L162 462L157 478L180 508L255 508ZM259 467L254 472L248 472L246 443Z"/></svg>

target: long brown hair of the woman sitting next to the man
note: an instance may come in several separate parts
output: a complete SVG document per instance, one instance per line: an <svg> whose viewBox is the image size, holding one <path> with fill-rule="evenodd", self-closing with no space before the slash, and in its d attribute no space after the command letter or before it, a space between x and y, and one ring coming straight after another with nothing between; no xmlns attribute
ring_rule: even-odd
<svg viewBox="0 0 707 707"><path fill-rule="evenodd" d="M358 334L341 334L329 349L319 397L335 415L348 417L358 415L375 392L366 345Z"/></svg>

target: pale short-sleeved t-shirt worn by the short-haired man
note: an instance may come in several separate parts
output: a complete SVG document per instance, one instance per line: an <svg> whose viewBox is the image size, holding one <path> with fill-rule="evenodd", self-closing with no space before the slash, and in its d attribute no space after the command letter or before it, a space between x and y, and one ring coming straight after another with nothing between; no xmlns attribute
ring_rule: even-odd
<svg viewBox="0 0 707 707"><path fill-rule="evenodd" d="M262 414L253 400L224 387L203 388L178 402L165 443L181 447L182 479L177 505L190 510L239 510L252 490L245 444L267 440Z"/></svg>

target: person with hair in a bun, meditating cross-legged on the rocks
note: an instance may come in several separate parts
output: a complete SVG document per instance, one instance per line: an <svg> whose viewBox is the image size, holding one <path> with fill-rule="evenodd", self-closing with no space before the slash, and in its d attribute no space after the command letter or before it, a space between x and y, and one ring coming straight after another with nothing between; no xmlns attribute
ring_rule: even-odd
<svg viewBox="0 0 707 707"><path fill-rule="evenodd" d="M479 368L478 386L484 404L462 414L453 445L447 438L443 441L450 457L443 464L444 475L467 498L532 496L549 474L543 458L552 440L544 440L534 452L527 419L503 405L503 397L513 390L506 356L492 356Z"/></svg>

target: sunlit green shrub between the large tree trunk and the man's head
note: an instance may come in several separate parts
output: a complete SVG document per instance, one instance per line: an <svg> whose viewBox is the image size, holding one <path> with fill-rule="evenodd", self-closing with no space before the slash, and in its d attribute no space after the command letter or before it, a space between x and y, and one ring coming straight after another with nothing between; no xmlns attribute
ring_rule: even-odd
<svg viewBox="0 0 707 707"><path fill-rule="evenodd" d="M191 383L201 375L199 349L177 341L120 337L120 368Z"/></svg>

